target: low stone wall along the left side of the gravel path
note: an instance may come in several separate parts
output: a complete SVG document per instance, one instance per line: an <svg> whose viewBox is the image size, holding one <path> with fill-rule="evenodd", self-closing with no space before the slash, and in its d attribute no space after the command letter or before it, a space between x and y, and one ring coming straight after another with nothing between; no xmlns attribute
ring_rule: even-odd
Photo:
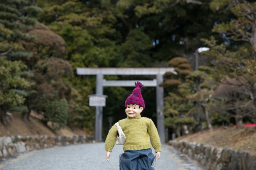
<svg viewBox="0 0 256 170"><path fill-rule="evenodd" d="M0 138L0 159L17 153L53 146L94 142L90 134L80 136L10 136Z"/></svg>

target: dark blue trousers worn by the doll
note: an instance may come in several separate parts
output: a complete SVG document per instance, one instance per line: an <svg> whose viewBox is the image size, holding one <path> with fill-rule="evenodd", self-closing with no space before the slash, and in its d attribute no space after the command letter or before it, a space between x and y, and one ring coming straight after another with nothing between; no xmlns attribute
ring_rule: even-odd
<svg viewBox="0 0 256 170"><path fill-rule="evenodd" d="M152 149L126 150L120 158L120 170L154 170Z"/></svg>

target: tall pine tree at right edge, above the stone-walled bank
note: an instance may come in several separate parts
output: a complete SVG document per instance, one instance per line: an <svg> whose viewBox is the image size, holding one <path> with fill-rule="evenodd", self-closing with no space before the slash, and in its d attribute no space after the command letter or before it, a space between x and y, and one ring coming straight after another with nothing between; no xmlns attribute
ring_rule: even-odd
<svg viewBox="0 0 256 170"><path fill-rule="evenodd" d="M256 3L250 1L232 1L229 10L234 18L229 22L216 24L212 31L221 34L225 40L219 43L215 37L203 38L205 45L210 47L205 54L213 56L215 61L215 78L229 87L244 87L236 91L227 91L227 95L236 95L235 99L222 98L223 110L236 118L238 127L242 127L243 117L255 117L256 107ZM220 88L223 88L223 85ZM219 93L216 96L222 96ZM253 105L252 105L253 103ZM232 106L233 105L233 106ZM248 111L249 110L249 111ZM248 113L250 113L248 115Z"/></svg>

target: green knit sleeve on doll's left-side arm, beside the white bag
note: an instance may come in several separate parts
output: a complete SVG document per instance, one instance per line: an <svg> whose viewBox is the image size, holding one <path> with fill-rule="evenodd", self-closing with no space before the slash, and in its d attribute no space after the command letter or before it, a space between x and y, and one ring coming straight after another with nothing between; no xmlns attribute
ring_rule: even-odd
<svg viewBox="0 0 256 170"><path fill-rule="evenodd" d="M112 152L117 140L117 126L113 125L109 130L109 134L106 137L105 150Z"/></svg>

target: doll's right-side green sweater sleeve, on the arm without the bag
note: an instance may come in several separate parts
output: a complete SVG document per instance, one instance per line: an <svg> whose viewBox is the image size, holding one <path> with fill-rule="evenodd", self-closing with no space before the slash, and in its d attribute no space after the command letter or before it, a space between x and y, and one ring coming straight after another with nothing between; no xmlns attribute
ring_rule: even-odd
<svg viewBox="0 0 256 170"><path fill-rule="evenodd" d="M148 126L148 134L150 135L150 141L155 149L155 152L161 152L161 142L158 135L158 131L154 122L150 119L150 125Z"/></svg>

